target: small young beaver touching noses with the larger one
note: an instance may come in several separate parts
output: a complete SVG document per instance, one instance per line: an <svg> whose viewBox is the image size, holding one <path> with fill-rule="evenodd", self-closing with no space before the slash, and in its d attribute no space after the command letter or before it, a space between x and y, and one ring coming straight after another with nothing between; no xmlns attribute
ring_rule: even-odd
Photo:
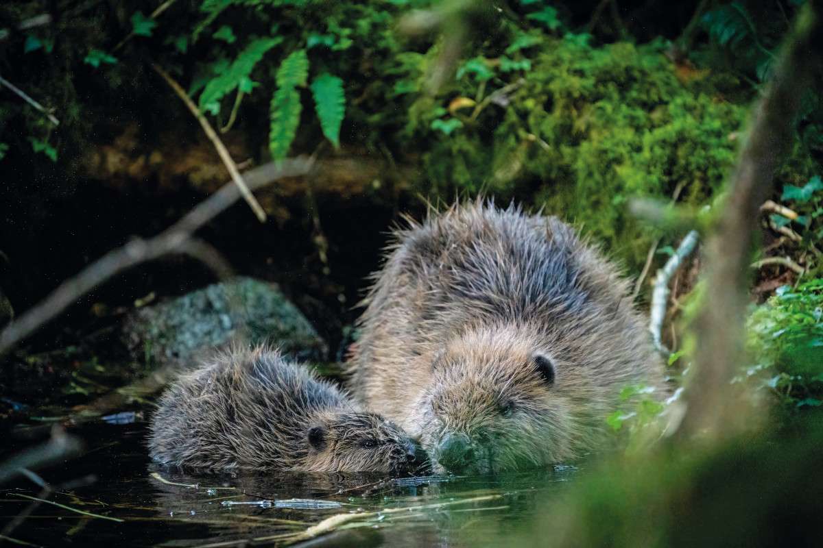
<svg viewBox="0 0 823 548"><path fill-rule="evenodd" d="M177 380L149 445L157 461L200 472L389 472L414 460L397 426L265 348L221 354Z"/></svg>

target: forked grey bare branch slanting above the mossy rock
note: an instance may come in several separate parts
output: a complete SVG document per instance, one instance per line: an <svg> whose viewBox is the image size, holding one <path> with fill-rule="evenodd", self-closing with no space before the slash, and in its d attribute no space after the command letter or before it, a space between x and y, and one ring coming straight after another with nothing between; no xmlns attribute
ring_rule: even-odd
<svg viewBox="0 0 823 548"><path fill-rule="evenodd" d="M284 160L277 165L267 163L246 173L250 189L264 187L281 177L297 177L309 172L311 162L307 159ZM115 274L140 263L155 260L169 253L185 253L202 260L217 271L227 265L219 254L205 242L192 237L199 228L221 214L240 196L234 182L227 182L207 200L203 200L170 228L148 240L137 238L125 246L109 251L80 274L60 284L49 297L33 306L19 319L9 324L0 333L0 356L8 352L22 338L27 337L49 320L66 310L78 298L105 282Z"/></svg>

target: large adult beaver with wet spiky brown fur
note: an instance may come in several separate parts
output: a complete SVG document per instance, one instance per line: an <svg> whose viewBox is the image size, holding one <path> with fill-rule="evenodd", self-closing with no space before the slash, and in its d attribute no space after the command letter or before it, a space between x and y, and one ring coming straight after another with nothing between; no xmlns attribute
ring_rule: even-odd
<svg viewBox="0 0 823 548"><path fill-rule="evenodd" d="M615 266L514 206L455 206L398 233L366 302L355 395L419 436L435 471L574 458L622 387L663 385Z"/></svg>

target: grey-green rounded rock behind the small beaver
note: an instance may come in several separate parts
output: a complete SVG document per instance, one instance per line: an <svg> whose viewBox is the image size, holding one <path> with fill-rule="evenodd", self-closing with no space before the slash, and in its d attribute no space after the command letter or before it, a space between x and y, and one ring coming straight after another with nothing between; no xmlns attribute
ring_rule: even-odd
<svg viewBox="0 0 823 548"><path fill-rule="evenodd" d="M138 308L123 325L137 359L185 364L214 347L270 343L300 361L325 361L328 348L277 285L250 278L215 283Z"/></svg>

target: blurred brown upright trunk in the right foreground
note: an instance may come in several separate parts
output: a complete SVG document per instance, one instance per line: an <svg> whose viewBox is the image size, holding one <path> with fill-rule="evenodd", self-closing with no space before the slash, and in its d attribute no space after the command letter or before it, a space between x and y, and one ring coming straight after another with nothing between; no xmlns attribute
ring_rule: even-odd
<svg viewBox="0 0 823 548"><path fill-rule="evenodd" d="M823 25L816 2L807 2L754 109L728 198L707 242L706 295L695 321L695 371L686 387L682 434L717 439L737 431L748 418L734 413L728 385L744 359L752 235L760 205L773 190L774 169L793 140L800 100L821 60Z"/></svg>

